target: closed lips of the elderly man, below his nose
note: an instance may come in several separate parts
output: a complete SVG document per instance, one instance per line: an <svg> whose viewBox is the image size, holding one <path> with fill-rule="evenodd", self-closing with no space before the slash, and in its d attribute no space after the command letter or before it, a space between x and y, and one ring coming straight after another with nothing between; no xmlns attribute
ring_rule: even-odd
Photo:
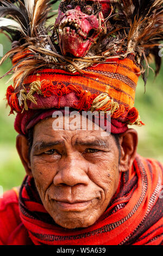
<svg viewBox="0 0 163 256"><path fill-rule="evenodd" d="M58 208L60 208L62 211L77 211L77 212L86 210L86 208L88 208L92 203L92 200L82 201L82 202L76 201L73 203L63 202L58 200L54 200L54 201L57 204Z"/></svg>

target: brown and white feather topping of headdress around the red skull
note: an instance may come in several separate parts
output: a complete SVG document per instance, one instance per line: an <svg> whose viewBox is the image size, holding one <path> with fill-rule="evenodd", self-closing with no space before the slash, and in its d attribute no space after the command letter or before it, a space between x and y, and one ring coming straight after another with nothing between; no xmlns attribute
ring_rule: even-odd
<svg viewBox="0 0 163 256"><path fill-rule="evenodd" d="M12 78L15 86L30 72L43 66L60 66L68 71L82 72L83 68L92 63L101 63L115 56L125 58L129 53L134 54L142 74L145 73L142 68L143 60L147 63L147 57L153 54L158 73L158 46L163 35L163 0L62 0L55 25L47 26L46 21L52 14L51 7L54 2L57 1L1 1L0 28L10 35L12 41L12 50L5 54L1 63L9 56L13 58L18 52L26 53L22 60L14 63ZM107 11L104 10L103 2L108 2ZM92 17L94 27L89 25L87 31L80 28L76 14L73 20L71 9L77 10L77 19L82 15L80 13L85 15L87 21L86 16L90 19ZM67 11L70 13L67 14ZM66 19L68 15L71 16ZM78 51L83 47L84 56L75 54L77 51L72 49L66 51L65 40L74 40L74 45L78 40Z"/></svg>

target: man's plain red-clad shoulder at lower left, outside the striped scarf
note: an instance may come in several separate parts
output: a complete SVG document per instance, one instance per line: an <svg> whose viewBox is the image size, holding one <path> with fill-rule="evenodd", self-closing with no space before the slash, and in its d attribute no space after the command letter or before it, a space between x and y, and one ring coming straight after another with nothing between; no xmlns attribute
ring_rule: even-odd
<svg viewBox="0 0 163 256"><path fill-rule="evenodd" d="M18 191L13 188L0 198L0 244L7 243L8 237L20 223Z"/></svg>

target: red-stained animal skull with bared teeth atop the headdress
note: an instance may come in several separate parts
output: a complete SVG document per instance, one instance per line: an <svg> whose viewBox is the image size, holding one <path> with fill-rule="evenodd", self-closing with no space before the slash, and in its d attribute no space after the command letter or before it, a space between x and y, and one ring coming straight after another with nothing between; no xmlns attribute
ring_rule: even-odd
<svg viewBox="0 0 163 256"><path fill-rule="evenodd" d="M84 57L104 31L104 17L98 1L64 0L55 22L62 54Z"/></svg>

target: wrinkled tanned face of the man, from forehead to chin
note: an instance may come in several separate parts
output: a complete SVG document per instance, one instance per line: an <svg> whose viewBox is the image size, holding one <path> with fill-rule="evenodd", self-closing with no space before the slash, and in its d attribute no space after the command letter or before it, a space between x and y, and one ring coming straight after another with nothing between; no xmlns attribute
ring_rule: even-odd
<svg viewBox="0 0 163 256"><path fill-rule="evenodd" d="M64 117L64 122L67 117ZM80 117L78 117L80 119ZM41 200L55 223L68 229L95 223L119 182L118 148L101 129L53 130L54 118L34 127L32 175Z"/></svg>

